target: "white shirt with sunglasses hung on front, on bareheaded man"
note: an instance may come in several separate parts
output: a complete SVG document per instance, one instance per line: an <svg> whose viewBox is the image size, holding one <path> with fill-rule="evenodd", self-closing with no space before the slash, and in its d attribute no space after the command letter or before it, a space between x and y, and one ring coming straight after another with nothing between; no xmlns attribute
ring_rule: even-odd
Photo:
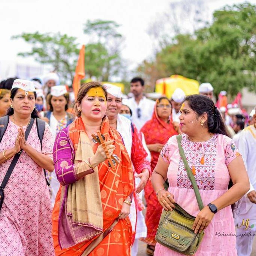
<svg viewBox="0 0 256 256"><path fill-rule="evenodd" d="M135 98L132 97L129 99L124 99L122 103L127 105L132 110L131 121L140 131L141 127L143 127L143 125L152 118L156 102L143 97L141 98L139 104L137 104Z"/></svg>

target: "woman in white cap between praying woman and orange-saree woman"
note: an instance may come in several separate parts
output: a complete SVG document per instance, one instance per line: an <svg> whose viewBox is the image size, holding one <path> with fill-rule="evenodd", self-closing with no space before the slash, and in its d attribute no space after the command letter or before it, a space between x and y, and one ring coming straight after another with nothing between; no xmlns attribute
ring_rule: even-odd
<svg viewBox="0 0 256 256"><path fill-rule="evenodd" d="M56 85L51 87L51 93L47 98L50 106L50 111L45 113L45 118L48 119L51 127L52 135L54 138L60 132L61 129L66 128L74 121L74 117L67 113L69 95L65 85ZM48 180L50 183L50 193L52 206L55 202L55 197L60 188L60 183L56 177L55 172L48 173Z"/></svg>

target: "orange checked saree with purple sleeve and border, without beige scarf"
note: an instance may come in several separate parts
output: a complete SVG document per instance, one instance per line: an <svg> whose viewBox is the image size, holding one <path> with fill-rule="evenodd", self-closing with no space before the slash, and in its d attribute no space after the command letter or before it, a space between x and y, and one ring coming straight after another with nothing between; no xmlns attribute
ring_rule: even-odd
<svg viewBox="0 0 256 256"><path fill-rule="evenodd" d="M76 156L77 144L79 144L79 134L85 132L82 119L78 118L69 127L63 129L57 135L54 144L54 164L57 172L57 177L61 182L60 190L58 191L55 205L52 213L53 221L53 238L56 255L83 255L85 249L94 241L98 235L90 239L82 239L83 234L86 234L88 226L81 223L72 223L69 225L60 225L60 219L70 218L70 213L66 212L64 207L67 204L67 187L77 182L79 179L76 175L76 164L74 164L74 156ZM86 132L85 132L86 133ZM116 146L114 154L119 158L119 164L116 164L116 170L109 167L108 160L98 165L98 179L100 185L100 197L103 211L103 232L109 228L115 219L118 218L122 209L123 201L131 194L133 189L133 175L131 169L131 161L128 153L122 143L119 133L109 126L107 117L103 118L101 124L101 134L104 135L105 141L114 140ZM90 146L90 145L86 145ZM93 152L95 153L98 143L95 143ZM68 162L70 161L70 162ZM65 162L65 167L63 165ZM79 163L80 164L80 163ZM85 171L89 169L84 166ZM66 171L66 172L65 172ZM63 178L66 175L65 179ZM91 175L89 172L87 175ZM86 176L82 179L86 180ZM70 183L68 182L70 180ZM73 183L71 183L73 182ZM69 184L68 184L69 183ZM94 204L95 202L90 202ZM64 226L64 228L63 228ZM60 228L62 229L60 233ZM77 232L79 229L79 233ZM75 234L77 232L77 234ZM98 232L98 231L97 231ZM98 232L99 233L99 232ZM97 233L97 234L98 234ZM83 240L80 243L75 243L73 246L61 249L61 239L68 240L64 237L67 234L76 235ZM73 241L73 240L72 240ZM113 230L98 244L98 246L89 254L90 256L98 255L130 255L131 247L131 223L129 218L119 219Z"/></svg>

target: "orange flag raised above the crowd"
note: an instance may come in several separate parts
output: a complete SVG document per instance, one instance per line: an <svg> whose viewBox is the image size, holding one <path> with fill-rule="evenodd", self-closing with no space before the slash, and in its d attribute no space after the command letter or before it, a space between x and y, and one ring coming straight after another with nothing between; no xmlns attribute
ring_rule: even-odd
<svg viewBox="0 0 256 256"><path fill-rule="evenodd" d="M83 77L85 77L85 46L84 45L82 45L82 48L80 49L80 52L79 52L76 71L75 71L74 80L72 84L75 99L77 96L77 92L80 88L81 79L83 79Z"/></svg>

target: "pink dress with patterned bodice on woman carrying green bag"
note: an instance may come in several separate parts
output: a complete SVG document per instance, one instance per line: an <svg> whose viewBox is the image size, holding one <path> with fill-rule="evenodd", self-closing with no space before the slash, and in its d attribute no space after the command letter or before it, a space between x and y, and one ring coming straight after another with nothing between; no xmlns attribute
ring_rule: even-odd
<svg viewBox="0 0 256 256"><path fill-rule="evenodd" d="M196 169L196 183L204 205L214 201L228 190L230 180L227 165L237 156L237 148L231 138L214 134L205 142L189 141L182 134L182 147L188 160ZM203 151L202 151L203 147ZM204 152L204 153L203 153ZM204 165L200 164L204 154ZM174 200L188 213L196 216L199 212L195 193L187 176L183 161L179 154L176 137L171 137L161 151L161 156L168 162L168 191L174 195ZM224 234L224 235L223 235ZM226 234L226 236L225 236ZM236 236L231 206L218 211L209 226L205 229L204 239L200 244L196 256L235 256ZM160 244L156 244L155 256L182 255Z"/></svg>

